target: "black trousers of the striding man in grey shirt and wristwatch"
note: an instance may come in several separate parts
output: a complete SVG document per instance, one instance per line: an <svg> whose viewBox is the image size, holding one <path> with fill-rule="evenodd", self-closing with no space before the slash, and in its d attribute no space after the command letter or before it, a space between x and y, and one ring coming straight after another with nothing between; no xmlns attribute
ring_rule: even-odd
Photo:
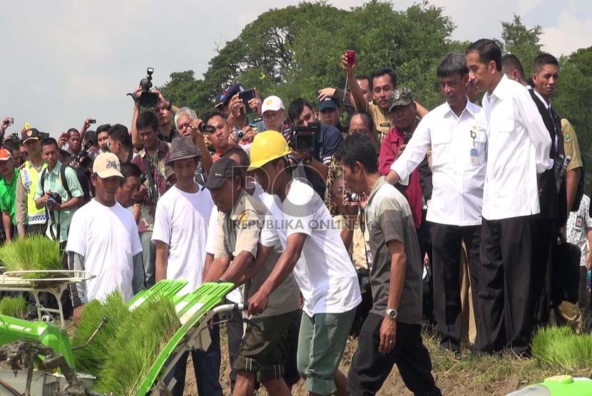
<svg viewBox="0 0 592 396"><path fill-rule="evenodd" d="M347 394L375 395L396 363L405 386L414 395L442 395L432 377L432 360L422 342L422 326L397 322L394 348L379 353L384 316L369 313L359 334L358 348L347 375Z"/></svg>

